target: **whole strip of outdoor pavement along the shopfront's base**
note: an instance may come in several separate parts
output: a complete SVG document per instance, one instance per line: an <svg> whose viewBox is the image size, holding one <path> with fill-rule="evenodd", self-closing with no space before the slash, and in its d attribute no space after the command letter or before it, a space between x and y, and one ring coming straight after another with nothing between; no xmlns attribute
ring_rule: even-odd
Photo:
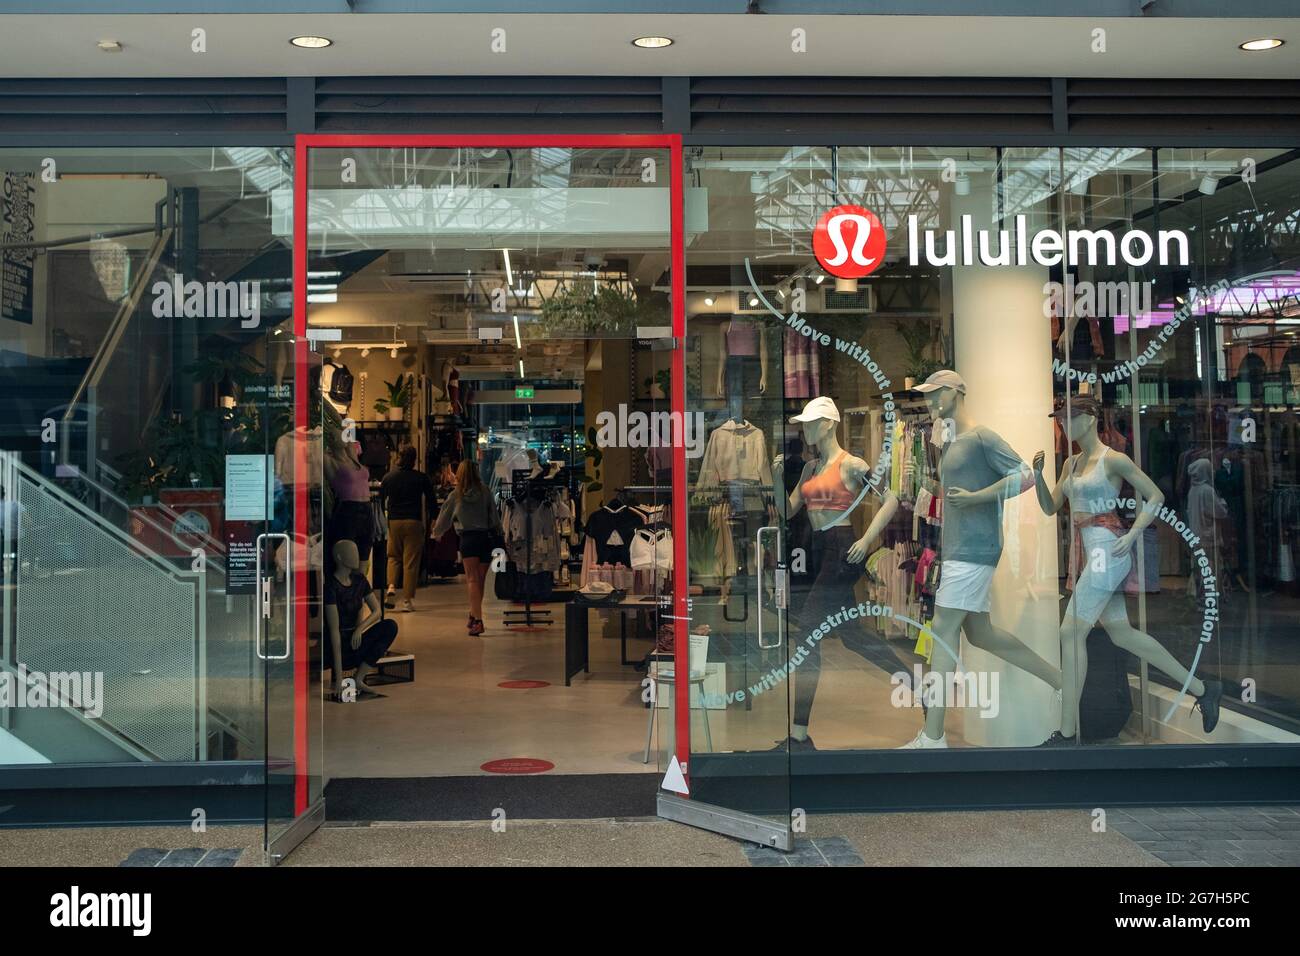
<svg viewBox="0 0 1300 956"><path fill-rule="evenodd" d="M326 823L283 866L1295 866L1300 808L827 814L793 853L650 817ZM261 830L0 830L0 865L256 866Z"/></svg>

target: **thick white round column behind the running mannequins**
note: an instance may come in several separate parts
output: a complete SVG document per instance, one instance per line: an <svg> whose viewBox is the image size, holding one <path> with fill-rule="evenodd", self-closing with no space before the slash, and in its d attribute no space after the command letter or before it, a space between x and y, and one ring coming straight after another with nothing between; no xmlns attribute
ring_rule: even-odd
<svg viewBox="0 0 1300 956"><path fill-rule="evenodd" d="M972 217L974 229L1010 234L1014 219L994 224L992 190L978 185L953 196L949 222ZM1030 230L1041 217L1030 216ZM1014 238L1013 238L1014 242ZM979 246L976 243L976 263ZM961 255L958 254L958 261ZM1046 451L1053 477L1052 326L1043 315L1048 269L1043 265L953 267L956 371L966 380L966 407L1031 464ZM993 623L1015 635L1053 666L1060 663L1056 518L1043 514L1030 489L1004 505L1002 561L993 578ZM1058 728L1052 689L1037 678L962 641L962 661L976 674L998 675L997 717L966 709L962 734L982 747L1028 747Z"/></svg>

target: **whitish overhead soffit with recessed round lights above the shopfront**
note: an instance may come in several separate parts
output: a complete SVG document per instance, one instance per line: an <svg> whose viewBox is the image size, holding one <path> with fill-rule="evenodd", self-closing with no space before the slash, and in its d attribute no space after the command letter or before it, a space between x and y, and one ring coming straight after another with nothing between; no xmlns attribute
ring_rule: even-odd
<svg viewBox="0 0 1300 956"><path fill-rule="evenodd" d="M0 17L6 77L229 75L1300 75L1290 18L736 14L134 14ZM192 31L205 52L192 52ZM506 31L493 52L491 31ZM805 30L807 52L790 49ZM1105 52L1093 31L1105 30ZM295 35L334 40L289 46ZM675 39L637 49L642 35ZM1266 53L1238 44L1288 39ZM103 53L114 39L122 51Z"/></svg>

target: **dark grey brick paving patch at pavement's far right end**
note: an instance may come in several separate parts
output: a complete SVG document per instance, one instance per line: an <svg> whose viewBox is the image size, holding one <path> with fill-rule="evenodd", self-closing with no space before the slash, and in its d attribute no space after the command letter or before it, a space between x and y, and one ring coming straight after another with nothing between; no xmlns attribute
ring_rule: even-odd
<svg viewBox="0 0 1300 956"><path fill-rule="evenodd" d="M1300 808L1109 810L1106 826L1170 866L1300 866Z"/></svg>

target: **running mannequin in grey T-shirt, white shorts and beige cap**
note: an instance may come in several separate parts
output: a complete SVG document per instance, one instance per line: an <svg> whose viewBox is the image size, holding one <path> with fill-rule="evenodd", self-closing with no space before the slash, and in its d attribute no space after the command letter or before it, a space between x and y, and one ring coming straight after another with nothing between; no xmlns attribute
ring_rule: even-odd
<svg viewBox="0 0 1300 956"><path fill-rule="evenodd" d="M966 382L957 372L935 372L916 392L926 395L935 427L942 429L939 479L944 486L944 528L939 592L930 632L935 641L931 669L946 680L957 666L959 637L1052 688L1061 671L989 618L993 571L1002 557L1002 501L1030 489L1032 480L1020 457L1001 436L976 424L966 411ZM962 486L962 485L975 485ZM931 702L924 728L904 749L948 747L944 697Z"/></svg>

